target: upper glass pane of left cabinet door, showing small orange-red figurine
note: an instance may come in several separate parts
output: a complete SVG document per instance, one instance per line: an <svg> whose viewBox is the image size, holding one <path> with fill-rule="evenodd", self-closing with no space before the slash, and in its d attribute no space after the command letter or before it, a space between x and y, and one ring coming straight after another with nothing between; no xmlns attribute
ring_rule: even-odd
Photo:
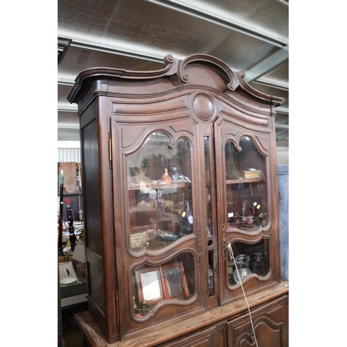
<svg viewBox="0 0 347 347"><path fill-rule="evenodd" d="M193 233L189 142L152 133L128 155L130 248L158 251Z"/></svg>

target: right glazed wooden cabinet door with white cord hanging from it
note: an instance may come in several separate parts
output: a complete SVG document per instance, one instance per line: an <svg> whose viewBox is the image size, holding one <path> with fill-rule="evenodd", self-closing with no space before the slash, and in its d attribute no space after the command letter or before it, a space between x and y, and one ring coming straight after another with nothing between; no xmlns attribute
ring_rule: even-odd
<svg viewBox="0 0 347 347"><path fill-rule="evenodd" d="M250 128L225 120L215 126L221 303L242 298L242 287L250 295L279 280L273 138L269 128Z"/></svg>

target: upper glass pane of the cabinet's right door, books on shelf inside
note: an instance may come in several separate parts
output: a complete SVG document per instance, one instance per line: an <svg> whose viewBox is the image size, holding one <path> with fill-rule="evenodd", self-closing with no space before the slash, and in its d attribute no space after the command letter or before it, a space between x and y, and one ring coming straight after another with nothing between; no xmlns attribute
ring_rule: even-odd
<svg viewBox="0 0 347 347"><path fill-rule="evenodd" d="M249 137L226 144L226 216L228 230L257 230L268 223L266 158Z"/></svg>

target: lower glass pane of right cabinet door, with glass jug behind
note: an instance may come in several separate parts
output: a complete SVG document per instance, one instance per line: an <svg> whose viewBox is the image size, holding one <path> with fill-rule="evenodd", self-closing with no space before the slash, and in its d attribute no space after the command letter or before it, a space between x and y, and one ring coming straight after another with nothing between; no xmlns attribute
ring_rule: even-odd
<svg viewBox="0 0 347 347"><path fill-rule="evenodd" d="M236 285L251 273L265 277L269 273L269 240L261 239L257 244L244 244L235 242L232 253L235 259L228 256L229 285ZM236 262L236 266L235 266ZM237 267L237 270L236 270Z"/></svg>

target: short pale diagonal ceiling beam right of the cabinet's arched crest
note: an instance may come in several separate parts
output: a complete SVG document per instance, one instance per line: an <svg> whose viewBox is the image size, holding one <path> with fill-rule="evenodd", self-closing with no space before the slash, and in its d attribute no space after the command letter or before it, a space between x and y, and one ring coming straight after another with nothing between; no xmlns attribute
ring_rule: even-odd
<svg viewBox="0 0 347 347"><path fill-rule="evenodd" d="M278 67L283 61L289 58L289 44L283 47L269 58L266 58L259 64L255 65L252 69L246 71L246 77L244 78L246 82L250 83L257 78L260 78L264 74Z"/></svg>

